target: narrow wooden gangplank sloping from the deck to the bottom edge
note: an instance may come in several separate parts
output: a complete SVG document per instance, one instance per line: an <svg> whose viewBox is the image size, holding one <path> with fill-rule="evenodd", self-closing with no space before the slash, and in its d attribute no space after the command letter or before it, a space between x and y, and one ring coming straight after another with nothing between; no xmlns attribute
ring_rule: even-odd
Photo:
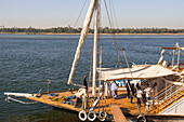
<svg viewBox="0 0 184 122"><path fill-rule="evenodd" d="M110 105L111 113L114 116L115 122L127 122L124 114L117 104Z"/></svg>

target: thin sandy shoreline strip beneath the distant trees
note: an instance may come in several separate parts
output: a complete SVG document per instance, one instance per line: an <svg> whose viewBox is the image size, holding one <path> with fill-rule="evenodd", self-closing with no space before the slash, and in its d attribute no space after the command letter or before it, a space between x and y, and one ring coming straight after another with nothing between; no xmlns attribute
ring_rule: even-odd
<svg viewBox="0 0 184 122"><path fill-rule="evenodd" d="M38 33L34 33L34 32L0 32L0 35L80 35L80 33L52 33L52 32L38 32ZM89 35L93 35L93 33L89 33ZM113 35L113 33L100 33L100 35L104 35L104 36L108 36L108 35ZM165 36L179 36L179 35L184 35L184 33L114 33L114 35L132 35L132 36L157 36L157 35L165 35Z"/></svg>

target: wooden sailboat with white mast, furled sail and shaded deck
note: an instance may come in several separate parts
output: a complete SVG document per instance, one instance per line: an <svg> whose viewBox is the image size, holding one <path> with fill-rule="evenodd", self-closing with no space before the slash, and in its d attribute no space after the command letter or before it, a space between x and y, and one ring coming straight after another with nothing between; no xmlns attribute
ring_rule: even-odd
<svg viewBox="0 0 184 122"><path fill-rule="evenodd" d="M11 96L25 97L38 103L43 103L56 108L67 109L79 113L79 119L86 121L94 121L96 118L100 121L105 120L121 120L126 121L126 116L143 117L146 116L181 116L184 117L182 107L184 106L184 68L183 63L180 62L180 53L184 48L176 44L173 48L162 48L160 59L156 65L132 65L129 66L124 49L127 68L105 68L102 67L102 46L98 41L98 26L100 26L100 0L91 0L84 23L81 30L78 48L73 62L71 71L67 83L80 86L81 89L69 89L63 91L49 91L50 80L48 80L48 92L41 93L41 90L35 94L26 93L9 93L5 92L6 100L15 100L22 104L28 104ZM93 40L93 76L92 86L88 85L86 77L82 84L75 84L73 82L75 69L80 57L82 45L88 36L88 30L94 15L94 40ZM116 42L114 43L116 45ZM163 53L166 51L173 51L172 62L165 60ZM178 62L174 62L174 55L178 52ZM118 52L117 52L118 54ZM97 65L98 60L98 65ZM119 60L119 58L118 58ZM128 81L141 85L142 89L146 84L152 86L152 97L149 100L141 100L137 105L136 97L131 90ZM117 90L117 97L111 97L110 84L119 83ZM129 103L130 98L126 98L127 89L122 86L128 84L130 89L130 96L133 97L134 104ZM137 87L135 86L135 90ZM137 91L137 90L136 90ZM144 95L143 95L144 96ZM144 106L148 105L148 109ZM111 118L113 117L113 118Z"/></svg>

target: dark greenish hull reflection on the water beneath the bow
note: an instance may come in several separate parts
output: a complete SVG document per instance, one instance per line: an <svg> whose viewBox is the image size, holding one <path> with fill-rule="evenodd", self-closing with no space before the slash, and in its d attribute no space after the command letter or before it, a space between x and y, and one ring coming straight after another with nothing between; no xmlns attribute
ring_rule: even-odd
<svg viewBox="0 0 184 122"><path fill-rule="evenodd" d="M80 122L78 112L68 111L65 109L53 108L49 111L43 111L34 114L9 116L9 122ZM88 122L88 121L87 121ZM100 121L95 121L100 122Z"/></svg>

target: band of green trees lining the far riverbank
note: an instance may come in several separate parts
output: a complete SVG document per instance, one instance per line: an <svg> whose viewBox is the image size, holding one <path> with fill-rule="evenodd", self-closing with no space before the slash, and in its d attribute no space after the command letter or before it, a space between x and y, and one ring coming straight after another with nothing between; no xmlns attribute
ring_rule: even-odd
<svg viewBox="0 0 184 122"><path fill-rule="evenodd" d="M48 29L37 29L37 28L0 28L0 32L15 33L79 33L82 28L73 27L56 27ZM93 33L93 29L89 29L90 33ZM101 33L184 33L184 29L168 29L168 28L115 28L110 29L108 27L100 28Z"/></svg>

